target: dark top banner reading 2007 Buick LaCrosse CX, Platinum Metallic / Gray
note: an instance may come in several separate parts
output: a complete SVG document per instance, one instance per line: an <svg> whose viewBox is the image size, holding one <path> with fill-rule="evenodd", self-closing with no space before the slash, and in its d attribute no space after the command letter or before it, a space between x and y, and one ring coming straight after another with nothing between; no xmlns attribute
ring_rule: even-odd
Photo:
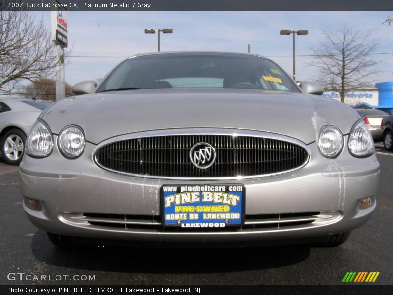
<svg viewBox="0 0 393 295"><path fill-rule="evenodd" d="M392 0L57 0L69 11L391 11ZM56 10L54 0L0 0L1 10ZM14 3L14 4L12 4ZM17 4L18 3L18 4ZM19 4L19 3L22 3ZM112 4L111 4L112 3ZM138 5L140 3L140 5ZM93 5L86 5L93 4ZM105 4L105 5L104 5ZM141 5L148 4L148 5ZM18 7L16 7L18 6Z"/></svg>

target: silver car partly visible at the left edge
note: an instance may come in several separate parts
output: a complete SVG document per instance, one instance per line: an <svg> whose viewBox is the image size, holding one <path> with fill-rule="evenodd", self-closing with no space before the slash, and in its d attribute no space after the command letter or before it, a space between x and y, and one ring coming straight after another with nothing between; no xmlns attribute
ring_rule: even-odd
<svg viewBox="0 0 393 295"><path fill-rule="evenodd" d="M0 97L0 152L4 162L18 165L27 134L49 101Z"/></svg>

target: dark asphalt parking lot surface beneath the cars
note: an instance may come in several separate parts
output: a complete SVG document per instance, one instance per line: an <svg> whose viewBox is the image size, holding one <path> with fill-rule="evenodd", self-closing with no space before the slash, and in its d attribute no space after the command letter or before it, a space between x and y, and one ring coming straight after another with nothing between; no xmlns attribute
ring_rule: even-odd
<svg viewBox="0 0 393 295"><path fill-rule="evenodd" d="M393 153L377 156L377 209L344 245L201 250L57 249L23 212L18 167L0 158L0 284L342 284L348 271L378 271L372 284L393 284Z"/></svg>

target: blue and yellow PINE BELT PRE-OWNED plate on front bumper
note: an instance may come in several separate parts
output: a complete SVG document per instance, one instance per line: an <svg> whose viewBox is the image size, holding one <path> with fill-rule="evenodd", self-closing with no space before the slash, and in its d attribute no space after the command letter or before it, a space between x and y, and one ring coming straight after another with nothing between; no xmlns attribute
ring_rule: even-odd
<svg viewBox="0 0 393 295"><path fill-rule="evenodd" d="M163 185L162 225L188 229L241 226L244 196L243 185Z"/></svg>

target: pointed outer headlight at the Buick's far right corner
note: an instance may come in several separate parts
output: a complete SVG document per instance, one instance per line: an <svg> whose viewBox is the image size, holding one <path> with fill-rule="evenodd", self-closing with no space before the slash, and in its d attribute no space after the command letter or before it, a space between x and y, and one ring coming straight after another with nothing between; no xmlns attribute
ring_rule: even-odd
<svg viewBox="0 0 393 295"><path fill-rule="evenodd" d="M353 125L349 133L348 149L351 155L357 158L368 157L375 151L371 132L362 119Z"/></svg>

